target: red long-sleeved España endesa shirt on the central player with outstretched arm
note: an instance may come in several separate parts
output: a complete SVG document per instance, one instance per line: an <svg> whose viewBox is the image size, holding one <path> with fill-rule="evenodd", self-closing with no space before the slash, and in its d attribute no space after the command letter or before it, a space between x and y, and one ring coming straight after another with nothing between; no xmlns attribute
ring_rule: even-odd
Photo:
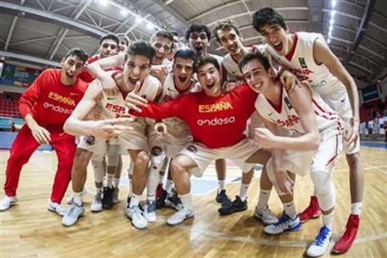
<svg viewBox="0 0 387 258"><path fill-rule="evenodd" d="M146 107L140 107L141 113L131 113L153 119L178 117L188 124L193 141L209 148L222 148L246 138L243 132L255 110L257 96L247 84L242 84L220 97L209 97L202 91L169 102L148 103Z"/></svg>

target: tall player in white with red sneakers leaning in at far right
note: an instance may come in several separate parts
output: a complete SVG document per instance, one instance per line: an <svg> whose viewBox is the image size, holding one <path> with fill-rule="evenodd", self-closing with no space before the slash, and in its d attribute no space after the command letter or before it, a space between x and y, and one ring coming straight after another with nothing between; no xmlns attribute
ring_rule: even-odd
<svg viewBox="0 0 387 258"><path fill-rule="evenodd" d="M363 169L360 161L358 137L359 99L355 81L332 53L321 34L289 33L283 17L271 8L257 11L253 16L254 28L265 38L268 52L283 68L293 72L300 80L323 98L345 122L344 151L349 165L351 185L351 215L346 231L333 251L346 252L356 238L363 194ZM321 211L317 198L301 213L305 222L318 217Z"/></svg>

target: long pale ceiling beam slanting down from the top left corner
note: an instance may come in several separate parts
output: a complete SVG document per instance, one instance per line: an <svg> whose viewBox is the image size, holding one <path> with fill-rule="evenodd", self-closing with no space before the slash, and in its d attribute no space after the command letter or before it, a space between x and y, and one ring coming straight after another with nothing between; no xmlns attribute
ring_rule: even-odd
<svg viewBox="0 0 387 258"><path fill-rule="evenodd" d="M89 35L93 38L100 38L106 34L107 31L92 28L85 24L72 21L69 18L59 16L52 13L43 12L34 8L19 6L11 3L0 2L0 12L8 15L19 16L27 19L38 20L40 22L47 22L63 26L67 29L75 30L83 34Z"/></svg>

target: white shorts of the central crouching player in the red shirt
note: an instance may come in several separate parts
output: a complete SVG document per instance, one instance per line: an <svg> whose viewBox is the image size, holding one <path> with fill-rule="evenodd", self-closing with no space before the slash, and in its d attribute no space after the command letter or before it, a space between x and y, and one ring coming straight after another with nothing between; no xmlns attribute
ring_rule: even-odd
<svg viewBox="0 0 387 258"><path fill-rule="evenodd" d="M258 143L251 139L243 139L233 146L217 149L210 149L201 143L192 142L188 143L179 154L184 154L195 161L198 168L191 169L190 173L200 178L210 163L220 158L231 159L244 173L247 173L255 164L245 161L258 149Z"/></svg>

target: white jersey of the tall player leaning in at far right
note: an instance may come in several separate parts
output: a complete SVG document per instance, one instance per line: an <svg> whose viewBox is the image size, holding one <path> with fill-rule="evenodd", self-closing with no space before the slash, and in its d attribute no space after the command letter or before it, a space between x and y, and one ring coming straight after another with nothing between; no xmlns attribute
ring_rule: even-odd
<svg viewBox="0 0 387 258"><path fill-rule="evenodd" d="M319 33L297 32L293 49L286 56L279 56L271 46L267 46L267 51L281 66L321 95L345 89L343 83L325 65L318 65L315 62L313 44L317 39L325 43L325 39Z"/></svg>

